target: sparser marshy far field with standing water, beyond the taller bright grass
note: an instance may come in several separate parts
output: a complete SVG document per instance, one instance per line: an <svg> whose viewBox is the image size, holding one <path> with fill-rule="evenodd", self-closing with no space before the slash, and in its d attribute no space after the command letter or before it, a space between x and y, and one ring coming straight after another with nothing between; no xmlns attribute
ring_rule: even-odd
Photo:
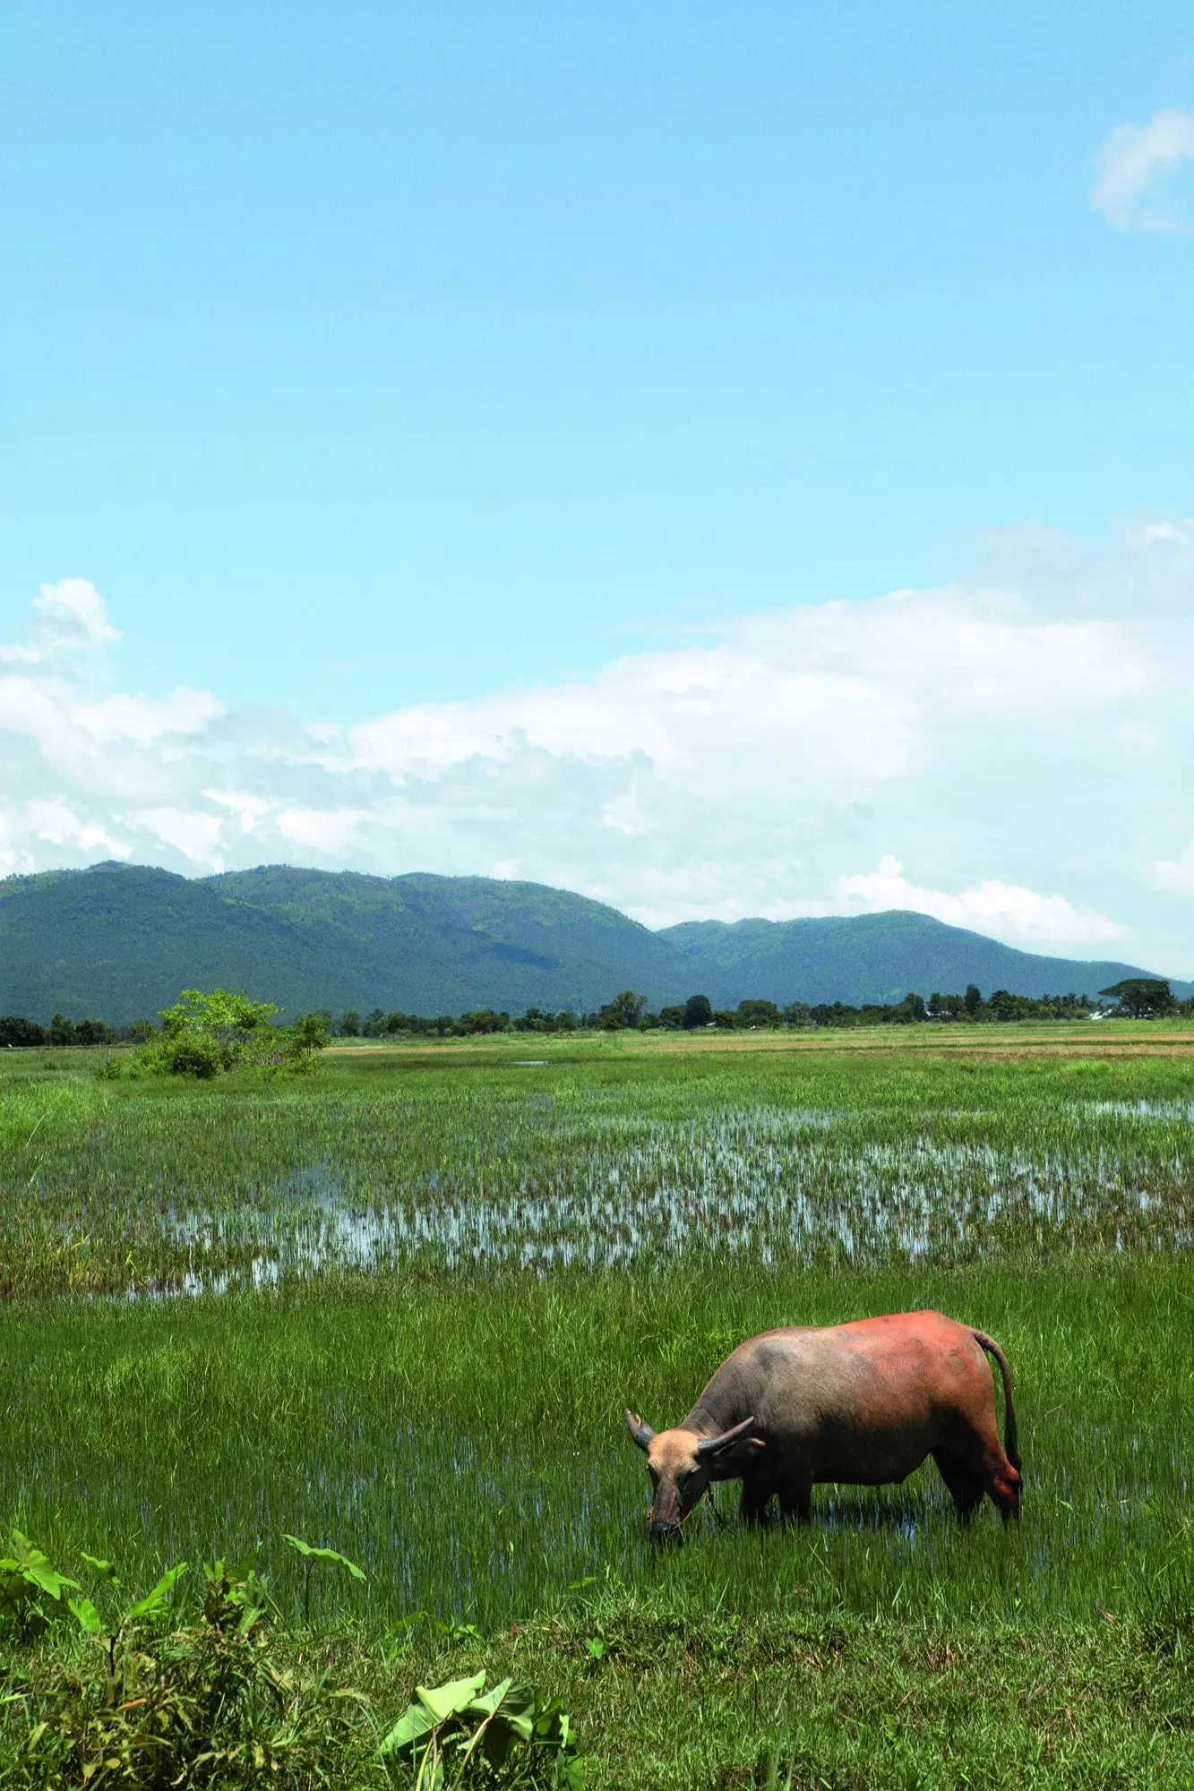
<svg viewBox="0 0 1194 1791"><path fill-rule="evenodd" d="M491 1076L430 1093L228 1091L219 1103L177 1091L82 1112L50 1096L41 1123L27 1098L0 1166L9 1275L39 1255L50 1282L219 1291L414 1266L619 1270L692 1252L878 1266L1194 1241L1190 1100L1076 1100L1074 1078L1054 1075L1015 1105L970 1084L979 1100L959 1107L943 1098L961 1080L948 1066L936 1085L914 1078L934 1096L923 1103L877 1078L868 1091L857 1073L848 1091L821 1078L816 1093L850 1094L839 1105L792 1100L805 1093L794 1087L751 1098L748 1073L730 1103L726 1076L629 1093L549 1067L556 1087L536 1093Z"/></svg>

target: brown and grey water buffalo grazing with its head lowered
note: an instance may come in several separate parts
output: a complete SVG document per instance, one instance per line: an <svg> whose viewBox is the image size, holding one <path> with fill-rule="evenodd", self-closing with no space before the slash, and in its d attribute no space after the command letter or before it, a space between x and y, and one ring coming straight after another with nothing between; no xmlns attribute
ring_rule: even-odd
<svg viewBox="0 0 1194 1791"><path fill-rule="evenodd" d="M1004 1379L1004 1447L986 1356ZM647 1456L653 1540L678 1540L714 1479L742 1481L742 1517L809 1517L819 1481L886 1487L925 1456L941 1469L963 1522L990 1494L1020 1513L1011 1370L999 1343L945 1313L893 1313L848 1325L792 1325L740 1343L674 1431L626 1424Z"/></svg>

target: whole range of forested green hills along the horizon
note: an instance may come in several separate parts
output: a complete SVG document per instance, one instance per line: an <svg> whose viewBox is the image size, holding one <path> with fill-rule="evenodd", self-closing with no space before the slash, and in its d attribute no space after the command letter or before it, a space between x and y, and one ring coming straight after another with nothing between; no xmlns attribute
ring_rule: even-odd
<svg viewBox="0 0 1194 1791"><path fill-rule="evenodd" d="M93 865L0 881L0 1014L152 1015L183 987L247 989L290 1014L402 1008L592 1012L620 989L651 1007L706 994L891 1001L909 989L1095 994L1126 964L1013 951L918 913L715 921L653 933L541 883L299 870L179 878ZM1164 974L1164 969L1156 974ZM1189 985L1174 985L1174 990Z"/></svg>

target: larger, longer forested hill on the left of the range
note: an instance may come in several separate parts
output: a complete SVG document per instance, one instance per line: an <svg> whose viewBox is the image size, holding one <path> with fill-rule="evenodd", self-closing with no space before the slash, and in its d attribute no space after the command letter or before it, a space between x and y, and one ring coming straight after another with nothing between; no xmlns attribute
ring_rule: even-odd
<svg viewBox="0 0 1194 1791"><path fill-rule="evenodd" d="M143 865L0 881L0 1014L113 1026L186 985L317 1007L588 1012L619 989L683 1001L687 964L615 908L488 878L285 865L190 879Z"/></svg>

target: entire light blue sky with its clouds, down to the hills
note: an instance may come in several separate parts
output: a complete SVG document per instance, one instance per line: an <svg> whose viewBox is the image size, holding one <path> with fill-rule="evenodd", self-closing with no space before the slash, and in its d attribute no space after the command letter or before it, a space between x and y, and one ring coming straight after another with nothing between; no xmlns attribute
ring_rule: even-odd
<svg viewBox="0 0 1194 1791"><path fill-rule="evenodd" d="M1194 595L1187 5L14 0L0 34L0 869L111 845L504 870L663 922L850 908L898 861L907 904L1025 890L1101 919L957 917L1189 973L1190 738L1158 645ZM1158 578L1164 623L1138 602ZM1031 663L1099 693L1081 727L1042 698L1042 811L999 702L965 724L970 801L939 788L963 722L934 677L961 688L972 648L936 664L923 593L970 614L991 582L1013 634L1051 618L1017 636ZM923 616L884 661L902 589ZM812 620L835 604L850 648ZM1108 675L1138 661L1131 695L1095 636ZM753 752L721 715L742 784L710 795L658 690L764 638L751 664L862 679L907 756L877 738L839 786L785 686ZM889 682L907 663L923 690ZM807 713L855 713L818 691ZM86 750L29 720L59 700ZM1108 867L1120 702L1165 776L1147 813L1120 779ZM398 759L360 747L382 736ZM204 795L229 777L258 808ZM192 822L154 833L165 811ZM274 826L298 813L328 818Z"/></svg>

